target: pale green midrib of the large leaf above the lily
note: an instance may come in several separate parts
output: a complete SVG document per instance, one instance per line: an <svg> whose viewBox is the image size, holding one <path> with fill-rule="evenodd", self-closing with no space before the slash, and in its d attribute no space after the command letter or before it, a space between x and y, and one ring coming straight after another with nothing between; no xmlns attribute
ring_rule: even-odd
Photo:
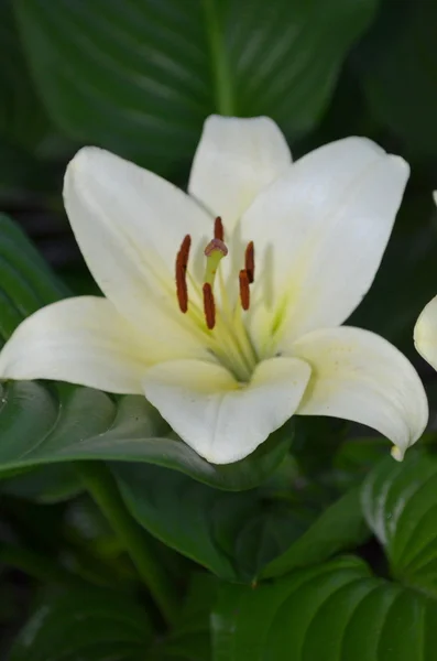
<svg viewBox="0 0 437 661"><path fill-rule="evenodd" d="M223 45L216 0L204 0L204 9L211 51L214 78L216 82L217 111L220 115L234 115L232 80L229 71L228 54Z"/></svg>

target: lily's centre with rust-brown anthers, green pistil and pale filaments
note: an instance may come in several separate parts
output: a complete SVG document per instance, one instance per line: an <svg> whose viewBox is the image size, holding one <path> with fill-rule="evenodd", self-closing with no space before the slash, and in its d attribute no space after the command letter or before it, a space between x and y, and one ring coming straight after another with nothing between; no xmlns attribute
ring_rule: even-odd
<svg viewBox="0 0 437 661"><path fill-rule="evenodd" d="M206 339L215 357L239 380L247 381L258 362L247 324L242 318L242 313L250 308L250 285L253 283L255 274L253 241L250 241L245 248L244 268L238 274L239 299L234 304L230 303L230 296L219 270L221 260L228 254L221 218L216 218L214 238L204 250L206 266L201 288L190 278L187 270L190 246L192 238L187 235L176 256L175 279L179 310L184 314L188 312L195 327L201 332L204 342ZM188 282L196 293L194 300L190 301L188 300Z"/></svg>

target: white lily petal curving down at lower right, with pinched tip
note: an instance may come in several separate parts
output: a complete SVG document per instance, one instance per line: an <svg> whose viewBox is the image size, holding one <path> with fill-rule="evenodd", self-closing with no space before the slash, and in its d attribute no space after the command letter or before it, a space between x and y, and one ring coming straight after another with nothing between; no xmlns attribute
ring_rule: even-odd
<svg viewBox="0 0 437 661"><path fill-rule="evenodd" d="M361 328L314 330L293 345L308 361L312 380L303 415L332 415L373 427L394 444L401 459L423 434L428 402L412 364L389 342Z"/></svg>

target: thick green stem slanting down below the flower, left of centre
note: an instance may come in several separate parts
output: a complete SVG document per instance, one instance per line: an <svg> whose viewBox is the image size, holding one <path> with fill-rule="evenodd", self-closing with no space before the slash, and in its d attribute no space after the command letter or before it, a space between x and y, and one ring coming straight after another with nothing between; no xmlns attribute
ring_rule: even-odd
<svg viewBox="0 0 437 661"><path fill-rule="evenodd" d="M170 576L149 544L145 531L129 513L112 475L105 464L98 462L80 462L76 464L76 469L124 550L129 553L164 619L171 624L178 610L176 592Z"/></svg>

